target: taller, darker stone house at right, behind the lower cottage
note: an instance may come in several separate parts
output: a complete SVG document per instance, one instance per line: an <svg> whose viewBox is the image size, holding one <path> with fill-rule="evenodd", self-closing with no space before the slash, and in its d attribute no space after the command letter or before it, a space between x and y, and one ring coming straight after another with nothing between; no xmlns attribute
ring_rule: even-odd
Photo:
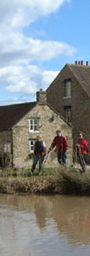
<svg viewBox="0 0 90 256"><path fill-rule="evenodd" d="M47 102L73 126L74 142L82 131L90 142L90 66L66 64L47 88Z"/></svg>

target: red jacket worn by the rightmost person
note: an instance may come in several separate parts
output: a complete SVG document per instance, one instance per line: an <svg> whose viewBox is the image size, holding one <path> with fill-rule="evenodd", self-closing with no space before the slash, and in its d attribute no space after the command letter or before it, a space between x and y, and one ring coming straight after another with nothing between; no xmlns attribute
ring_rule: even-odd
<svg viewBox="0 0 90 256"><path fill-rule="evenodd" d="M80 137L77 140L77 144L76 145L80 145L80 149L81 149L81 153L86 155L87 154L87 149L88 149L88 141L85 140L84 137ZM79 153L79 149L78 149L78 153Z"/></svg>

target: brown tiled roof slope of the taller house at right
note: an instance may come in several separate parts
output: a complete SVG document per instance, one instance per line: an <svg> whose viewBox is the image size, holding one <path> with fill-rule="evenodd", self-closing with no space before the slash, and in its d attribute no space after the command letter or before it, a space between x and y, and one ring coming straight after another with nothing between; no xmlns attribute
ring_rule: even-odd
<svg viewBox="0 0 90 256"><path fill-rule="evenodd" d="M67 64L70 70L74 73L77 81L80 82L81 86L85 89L85 92L90 96L90 66L80 64Z"/></svg>

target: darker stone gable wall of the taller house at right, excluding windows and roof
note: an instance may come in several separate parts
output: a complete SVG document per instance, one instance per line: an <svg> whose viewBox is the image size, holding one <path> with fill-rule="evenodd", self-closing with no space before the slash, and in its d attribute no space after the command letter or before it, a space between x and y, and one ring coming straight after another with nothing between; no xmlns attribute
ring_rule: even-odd
<svg viewBox="0 0 90 256"><path fill-rule="evenodd" d="M64 80L71 78L71 96L64 97ZM77 77L65 66L56 79L47 89L47 101L64 118L64 106L71 106L71 124L73 126L74 143L77 141L79 131L90 142L90 97L77 81ZM90 154L88 154L90 159Z"/></svg>

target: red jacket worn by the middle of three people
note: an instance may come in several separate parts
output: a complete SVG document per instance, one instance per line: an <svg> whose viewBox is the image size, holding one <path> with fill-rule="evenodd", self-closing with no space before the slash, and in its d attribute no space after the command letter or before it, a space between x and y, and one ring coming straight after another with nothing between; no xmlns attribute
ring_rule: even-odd
<svg viewBox="0 0 90 256"><path fill-rule="evenodd" d="M50 150L52 150L55 146L57 154L67 151L69 147L67 137L63 137L63 135L54 137Z"/></svg>

